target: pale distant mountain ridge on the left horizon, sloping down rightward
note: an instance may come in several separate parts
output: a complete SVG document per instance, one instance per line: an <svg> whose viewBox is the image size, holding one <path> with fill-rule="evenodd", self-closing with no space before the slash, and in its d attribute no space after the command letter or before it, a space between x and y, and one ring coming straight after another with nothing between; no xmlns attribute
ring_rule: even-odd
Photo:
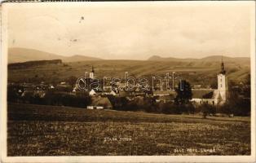
<svg viewBox="0 0 256 163"><path fill-rule="evenodd" d="M61 59L63 62L78 62L85 60L101 60L99 58L85 56L85 55L73 55L73 56L63 56L55 55L45 51L38 51L26 48L9 48L8 49L8 63L20 63L33 60L52 60Z"/></svg>

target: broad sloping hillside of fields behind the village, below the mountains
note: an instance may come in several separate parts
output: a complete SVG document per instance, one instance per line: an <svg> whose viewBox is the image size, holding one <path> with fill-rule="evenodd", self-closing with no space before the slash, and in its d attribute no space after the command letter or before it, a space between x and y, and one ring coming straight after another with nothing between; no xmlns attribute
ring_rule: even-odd
<svg viewBox="0 0 256 163"><path fill-rule="evenodd" d="M250 73L249 61L241 62L224 60L228 81L243 81ZM209 86L217 82L217 74L220 71L220 61L148 61L148 60L87 60L64 64L35 65L29 68L8 68L8 81L47 81L59 83L68 77L81 77L85 72L95 68L95 77L121 77L125 78L128 72L130 77L165 76L166 73L175 72L175 75L183 77L193 84ZM177 76L176 76L177 77Z"/></svg>

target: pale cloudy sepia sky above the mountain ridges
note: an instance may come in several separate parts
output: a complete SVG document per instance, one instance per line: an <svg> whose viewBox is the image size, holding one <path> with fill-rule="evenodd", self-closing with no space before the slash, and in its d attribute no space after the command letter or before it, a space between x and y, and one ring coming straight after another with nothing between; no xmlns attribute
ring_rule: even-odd
<svg viewBox="0 0 256 163"><path fill-rule="evenodd" d="M254 2L16 3L8 47L102 59L250 55Z"/></svg>

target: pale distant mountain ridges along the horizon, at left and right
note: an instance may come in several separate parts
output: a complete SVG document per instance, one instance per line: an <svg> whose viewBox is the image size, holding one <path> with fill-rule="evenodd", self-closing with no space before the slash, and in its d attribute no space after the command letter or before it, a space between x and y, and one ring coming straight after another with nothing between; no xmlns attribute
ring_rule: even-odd
<svg viewBox="0 0 256 163"><path fill-rule="evenodd" d="M174 57L161 57L159 55L152 55L148 58L148 61L174 61L174 62L219 62L223 58L224 62L241 62L244 64L249 64L249 57L227 57L222 55L211 55L201 59L193 59L193 58L174 58ZM26 48L9 48L8 49L8 63L21 63L33 60L52 60L52 59L61 59L63 62L79 62L86 60L102 60L96 57L90 57L85 55L73 55L73 56L63 56L63 55L55 55L52 53L48 53L45 51L38 51L33 49Z"/></svg>

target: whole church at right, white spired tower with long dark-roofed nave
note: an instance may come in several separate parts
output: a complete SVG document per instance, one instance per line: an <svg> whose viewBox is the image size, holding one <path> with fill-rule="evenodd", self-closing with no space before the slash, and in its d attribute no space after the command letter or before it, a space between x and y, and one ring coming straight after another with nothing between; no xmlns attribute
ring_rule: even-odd
<svg viewBox="0 0 256 163"><path fill-rule="evenodd" d="M222 105L227 100L227 77L223 59L221 71L217 75L218 89L192 89L192 102L195 104Z"/></svg>

